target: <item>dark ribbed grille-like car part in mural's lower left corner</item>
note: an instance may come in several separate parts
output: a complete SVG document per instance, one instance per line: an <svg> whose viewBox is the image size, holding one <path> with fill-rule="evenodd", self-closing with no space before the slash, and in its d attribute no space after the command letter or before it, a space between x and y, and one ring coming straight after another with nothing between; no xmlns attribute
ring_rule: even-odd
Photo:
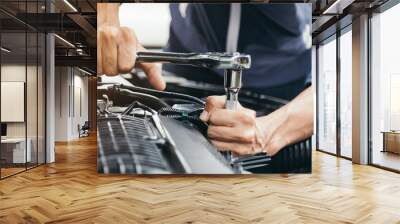
<svg viewBox="0 0 400 224"><path fill-rule="evenodd" d="M158 133L146 119L111 115L99 118L97 128L99 172L169 173Z"/></svg>

